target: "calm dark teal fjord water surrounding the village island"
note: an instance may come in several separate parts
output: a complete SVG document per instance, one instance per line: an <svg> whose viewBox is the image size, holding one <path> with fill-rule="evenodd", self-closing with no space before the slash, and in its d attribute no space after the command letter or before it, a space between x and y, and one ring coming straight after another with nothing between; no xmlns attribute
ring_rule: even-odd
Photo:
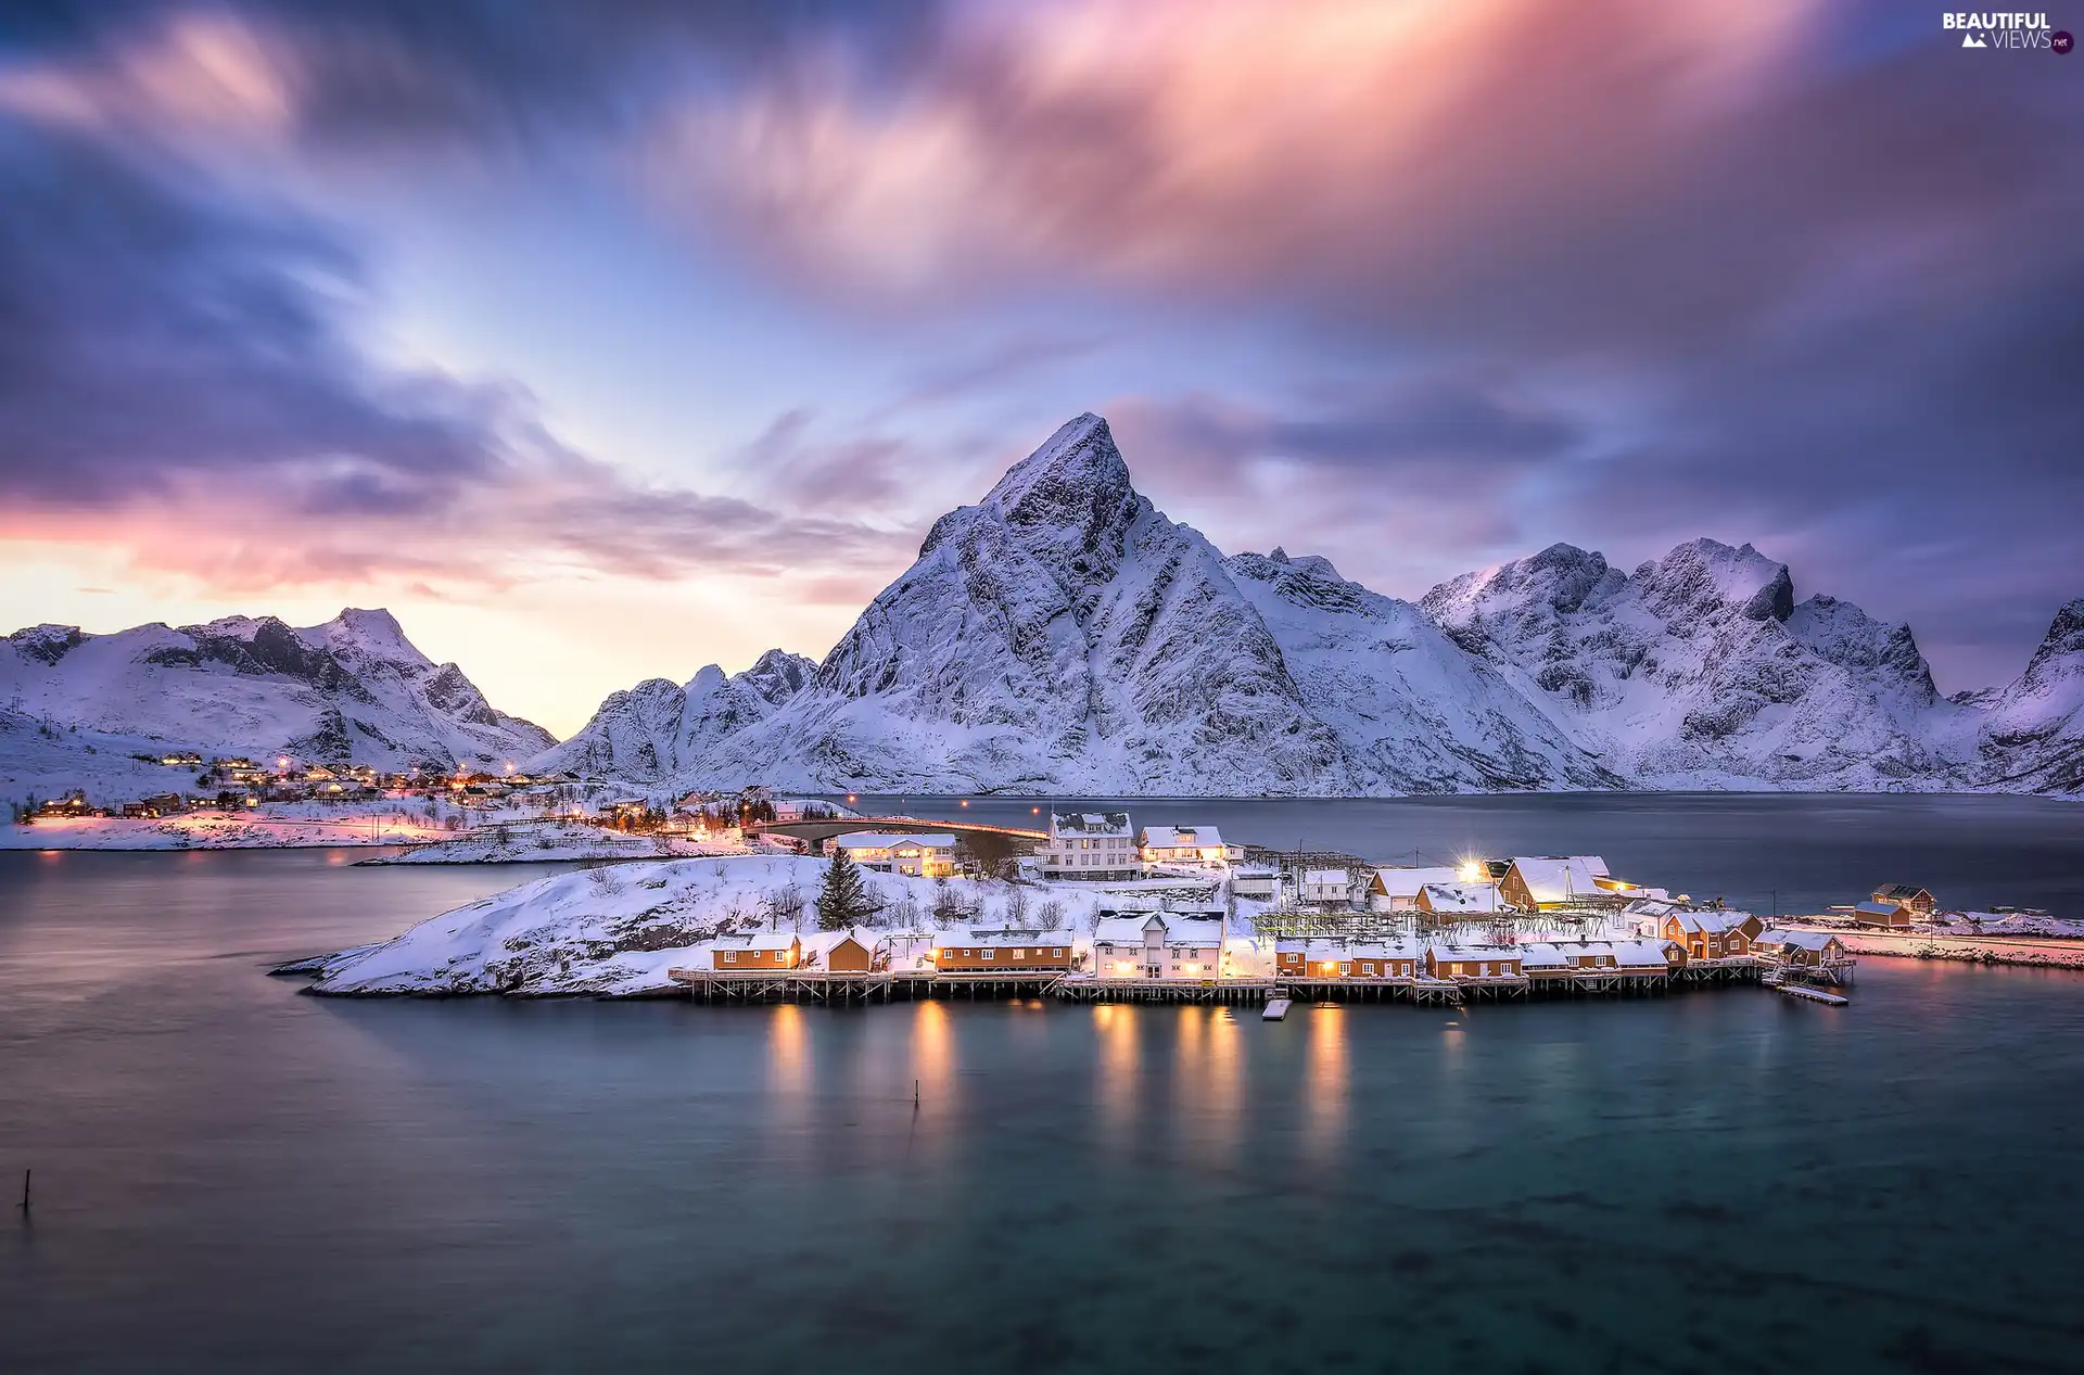
<svg viewBox="0 0 2084 1375"><path fill-rule="evenodd" d="M1828 852L1830 896L1907 877L2080 910L2084 813L2059 804L1640 802L1494 800L1475 825L1805 902ZM1259 840L1317 804L1221 806ZM1407 831L1448 815L1425 850L1465 821L1365 806ZM1732 990L1277 1025L306 998L260 969L542 873L346 858L0 856L0 1181L35 1167L38 1198L0 1221L0 1369L2055 1371L2084 1350L2084 975L1867 960L1844 1010Z"/></svg>

